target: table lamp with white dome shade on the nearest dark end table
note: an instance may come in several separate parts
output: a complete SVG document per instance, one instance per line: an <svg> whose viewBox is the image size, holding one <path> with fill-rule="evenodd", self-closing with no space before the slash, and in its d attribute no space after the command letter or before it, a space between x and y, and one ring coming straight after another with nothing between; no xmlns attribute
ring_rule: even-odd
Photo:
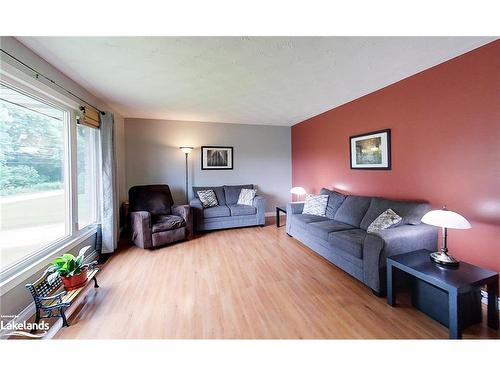
<svg viewBox="0 0 500 375"><path fill-rule="evenodd" d="M470 223L465 217L457 214L456 212L450 211L443 207L442 210L433 210L427 212L422 217L422 222L425 224L434 225L436 227L441 227L443 230L443 246L440 251L431 253L431 259L439 264L444 264L447 266L458 266L458 260L448 255L448 233L447 229L469 229L471 227Z"/></svg>

